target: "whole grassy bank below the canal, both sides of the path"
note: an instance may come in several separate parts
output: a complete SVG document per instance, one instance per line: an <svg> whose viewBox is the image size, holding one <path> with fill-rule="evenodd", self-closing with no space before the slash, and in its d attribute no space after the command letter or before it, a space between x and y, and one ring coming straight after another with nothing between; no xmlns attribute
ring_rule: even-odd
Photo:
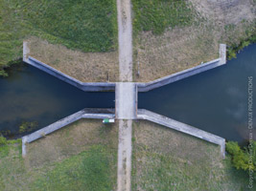
<svg viewBox="0 0 256 191"><path fill-rule="evenodd" d="M28 144L25 159L20 140L9 141L0 152L1 188L115 190L117 145L118 123L97 119L81 119ZM228 156L222 160L218 146L158 124L133 122L132 147L132 190L247 186L246 174L234 169Z"/></svg>

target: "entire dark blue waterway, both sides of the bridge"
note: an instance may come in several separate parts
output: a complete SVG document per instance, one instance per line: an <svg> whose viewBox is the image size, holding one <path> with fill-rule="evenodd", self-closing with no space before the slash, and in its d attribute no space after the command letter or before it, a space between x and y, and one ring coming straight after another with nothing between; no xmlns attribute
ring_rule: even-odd
<svg viewBox="0 0 256 191"><path fill-rule="evenodd" d="M243 143L249 136L248 77L254 77L256 100L255 74L256 45L251 45L220 68L140 93L138 108ZM114 93L85 93L21 63L0 78L0 132L18 138L27 133L20 132L26 122L36 122L35 131L83 108L114 108L114 99ZM255 127L255 115L253 120Z"/></svg>

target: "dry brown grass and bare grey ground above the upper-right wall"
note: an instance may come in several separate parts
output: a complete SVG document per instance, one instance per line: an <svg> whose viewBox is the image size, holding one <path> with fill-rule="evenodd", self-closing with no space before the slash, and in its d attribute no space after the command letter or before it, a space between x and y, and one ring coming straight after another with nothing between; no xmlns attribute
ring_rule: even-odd
<svg viewBox="0 0 256 191"><path fill-rule="evenodd" d="M198 18L189 27L133 38L135 81L151 81L219 57L219 44L239 44L253 27L251 0L190 0ZM203 18L203 19L202 19Z"/></svg>

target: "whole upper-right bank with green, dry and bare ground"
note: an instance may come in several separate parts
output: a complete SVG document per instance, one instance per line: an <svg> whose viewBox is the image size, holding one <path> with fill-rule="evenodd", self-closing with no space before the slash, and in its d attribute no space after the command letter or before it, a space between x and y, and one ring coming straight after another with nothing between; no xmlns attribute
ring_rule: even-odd
<svg viewBox="0 0 256 191"><path fill-rule="evenodd" d="M220 43L231 50L256 34L252 12L255 4L249 0L170 1L157 5L153 0L150 5L133 0L133 5L133 68L138 82L216 59Z"/></svg>

